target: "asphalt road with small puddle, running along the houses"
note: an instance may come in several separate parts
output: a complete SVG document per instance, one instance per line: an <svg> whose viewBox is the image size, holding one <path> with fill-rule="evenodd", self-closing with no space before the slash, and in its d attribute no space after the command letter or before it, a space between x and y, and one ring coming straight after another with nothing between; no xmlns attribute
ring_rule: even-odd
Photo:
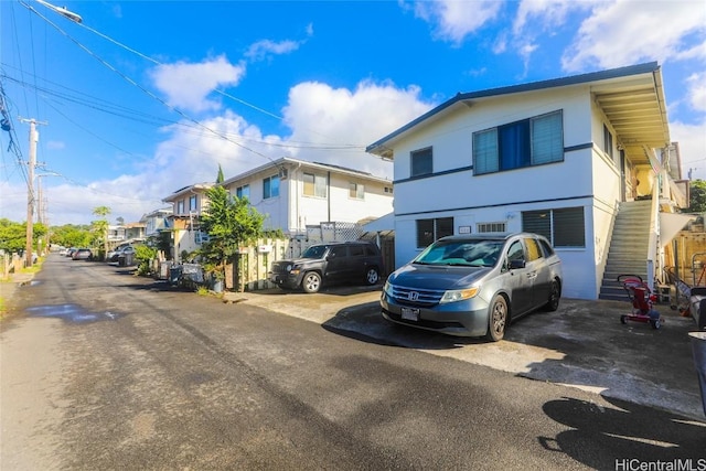
<svg viewBox="0 0 706 471"><path fill-rule="evenodd" d="M706 470L703 422L114 266L50 256L12 304L2 470Z"/></svg>

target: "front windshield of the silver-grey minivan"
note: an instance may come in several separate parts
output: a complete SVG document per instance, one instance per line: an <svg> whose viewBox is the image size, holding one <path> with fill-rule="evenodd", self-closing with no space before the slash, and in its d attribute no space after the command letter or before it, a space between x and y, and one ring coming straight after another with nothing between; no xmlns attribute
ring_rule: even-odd
<svg viewBox="0 0 706 471"><path fill-rule="evenodd" d="M419 254L413 263L422 265L492 267L500 259L503 245L504 240L437 240Z"/></svg>

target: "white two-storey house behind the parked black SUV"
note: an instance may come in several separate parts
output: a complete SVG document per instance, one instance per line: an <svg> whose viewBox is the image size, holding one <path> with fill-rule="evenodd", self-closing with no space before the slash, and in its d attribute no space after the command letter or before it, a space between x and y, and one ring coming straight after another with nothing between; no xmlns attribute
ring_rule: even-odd
<svg viewBox="0 0 706 471"><path fill-rule="evenodd" d="M288 237L355 239L361 221L393 211L389 180L290 158L227 179L223 186L266 216L265 229L281 229Z"/></svg>

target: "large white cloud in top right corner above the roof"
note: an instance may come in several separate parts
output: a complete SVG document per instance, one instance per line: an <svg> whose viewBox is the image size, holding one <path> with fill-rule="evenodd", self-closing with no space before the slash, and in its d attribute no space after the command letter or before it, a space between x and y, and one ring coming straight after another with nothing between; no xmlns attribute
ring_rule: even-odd
<svg viewBox="0 0 706 471"><path fill-rule="evenodd" d="M665 62L689 53L685 38L703 34L706 8L700 1L618 0L599 2L586 19L561 64L567 72L612 68L645 60Z"/></svg>

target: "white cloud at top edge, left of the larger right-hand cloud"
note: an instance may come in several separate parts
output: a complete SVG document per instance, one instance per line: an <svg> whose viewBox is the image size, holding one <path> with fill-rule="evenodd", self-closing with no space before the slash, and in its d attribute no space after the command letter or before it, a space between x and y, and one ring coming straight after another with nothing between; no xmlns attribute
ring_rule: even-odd
<svg viewBox="0 0 706 471"><path fill-rule="evenodd" d="M501 8L499 0L438 0L417 1L415 14L435 24L435 35L443 41L461 43L463 39L494 20Z"/></svg>

